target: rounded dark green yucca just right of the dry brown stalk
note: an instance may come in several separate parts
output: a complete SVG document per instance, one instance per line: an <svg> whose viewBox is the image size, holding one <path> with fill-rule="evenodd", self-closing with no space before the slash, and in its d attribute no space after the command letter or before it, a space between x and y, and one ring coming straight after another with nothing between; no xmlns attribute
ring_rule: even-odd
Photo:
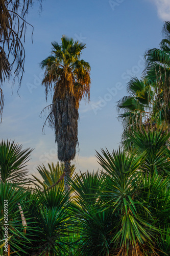
<svg viewBox="0 0 170 256"><path fill-rule="evenodd" d="M29 232L32 241L29 255L67 255L70 209L68 193L63 188L31 193L29 196L29 218L34 220L34 232ZM31 200L32 199L32 200Z"/></svg>

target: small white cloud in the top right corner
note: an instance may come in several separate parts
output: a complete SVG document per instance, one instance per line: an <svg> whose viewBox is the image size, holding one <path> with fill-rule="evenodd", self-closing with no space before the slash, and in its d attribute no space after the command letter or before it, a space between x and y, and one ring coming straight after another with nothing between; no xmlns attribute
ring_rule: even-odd
<svg viewBox="0 0 170 256"><path fill-rule="evenodd" d="M163 21L170 20L170 1L169 0L151 0L157 7L158 16Z"/></svg>

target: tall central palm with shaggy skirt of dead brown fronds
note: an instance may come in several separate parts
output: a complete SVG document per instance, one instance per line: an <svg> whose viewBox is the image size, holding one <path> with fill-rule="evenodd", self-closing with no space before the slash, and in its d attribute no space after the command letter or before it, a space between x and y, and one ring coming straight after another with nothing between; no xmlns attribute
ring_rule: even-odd
<svg viewBox="0 0 170 256"><path fill-rule="evenodd" d="M62 36L62 44L52 42L52 55L40 63L45 68L42 84L46 97L53 90L48 124L55 129L58 159L64 162L64 185L69 189L70 161L76 155L78 145L79 103L90 97L90 65L80 60L85 44ZM47 120L46 119L46 120Z"/></svg>

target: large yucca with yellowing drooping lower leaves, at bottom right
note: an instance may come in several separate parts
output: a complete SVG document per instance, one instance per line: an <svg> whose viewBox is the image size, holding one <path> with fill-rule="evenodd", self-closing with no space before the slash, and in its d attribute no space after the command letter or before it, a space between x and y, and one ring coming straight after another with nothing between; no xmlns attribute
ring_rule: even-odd
<svg viewBox="0 0 170 256"><path fill-rule="evenodd" d="M97 157L106 171L103 172L106 177L105 206L112 210L112 218L116 219L110 255L156 255L156 240L153 238L159 233L159 228L154 225L155 219L147 208L149 205L140 198L143 155L127 154L120 149L111 154L107 150L102 150L102 153L104 156L97 153Z"/></svg>

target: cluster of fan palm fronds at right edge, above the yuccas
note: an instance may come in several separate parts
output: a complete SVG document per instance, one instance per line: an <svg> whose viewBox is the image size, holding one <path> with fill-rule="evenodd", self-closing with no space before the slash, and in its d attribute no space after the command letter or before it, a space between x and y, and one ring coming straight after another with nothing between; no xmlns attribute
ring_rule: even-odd
<svg viewBox="0 0 170 256"><path fill-rule="evenodd" d="M142 79L132 78L127 91L130 95L118 101L119 120L123 122L123 145L131 146L131 140L126 136L131 128L164 129L169 131L170 115L170 22L164 22L160 49L153 48L145 52L145 69ZM131 133L132 135L132 133Z"/></svg>

